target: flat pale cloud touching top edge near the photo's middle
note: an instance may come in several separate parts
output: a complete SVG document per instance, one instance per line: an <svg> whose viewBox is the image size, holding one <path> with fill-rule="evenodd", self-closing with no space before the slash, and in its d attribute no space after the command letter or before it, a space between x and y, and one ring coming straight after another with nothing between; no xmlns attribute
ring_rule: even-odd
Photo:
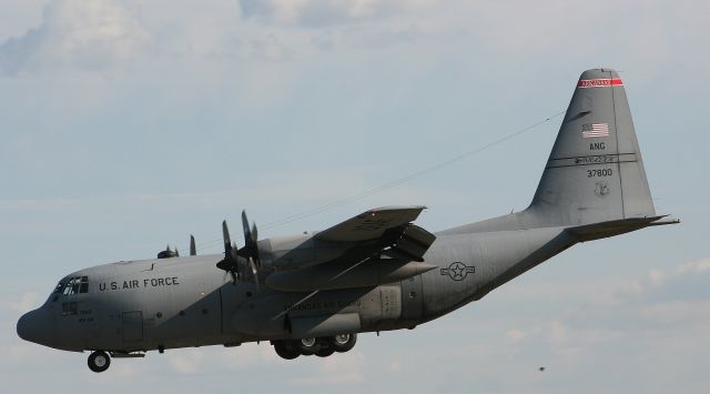
<svg viewBox="0 0 710 394"><path fill-rule="evenodd" d="M327 27L427 9L428 0L240 0L242 16L271 24Z"/></svg>

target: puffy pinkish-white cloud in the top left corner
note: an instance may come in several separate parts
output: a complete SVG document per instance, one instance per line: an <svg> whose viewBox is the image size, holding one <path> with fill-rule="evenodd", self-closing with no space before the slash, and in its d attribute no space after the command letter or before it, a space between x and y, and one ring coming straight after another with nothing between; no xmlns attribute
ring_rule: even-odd
<svg viewBox="0 0 710 394"><path fill-rule="evenodd" d="M0 44L0 72L57 67L103 70L134 60L153 46L138 9L122 0L57 0L38 28Z"/></svg>

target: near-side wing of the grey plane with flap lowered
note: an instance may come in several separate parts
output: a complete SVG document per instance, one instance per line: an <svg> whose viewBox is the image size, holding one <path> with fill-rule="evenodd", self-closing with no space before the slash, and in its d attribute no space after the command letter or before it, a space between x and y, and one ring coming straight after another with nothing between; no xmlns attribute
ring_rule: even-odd
<svg viewBox="0 0 710 394"><path fill-rule="evenodd" d="M280 291L317 292L392 283L434 270L423 257L436 236L412 223L424 209L378 208L318 232L275 256L275 272L265 283Z"/></svg>

